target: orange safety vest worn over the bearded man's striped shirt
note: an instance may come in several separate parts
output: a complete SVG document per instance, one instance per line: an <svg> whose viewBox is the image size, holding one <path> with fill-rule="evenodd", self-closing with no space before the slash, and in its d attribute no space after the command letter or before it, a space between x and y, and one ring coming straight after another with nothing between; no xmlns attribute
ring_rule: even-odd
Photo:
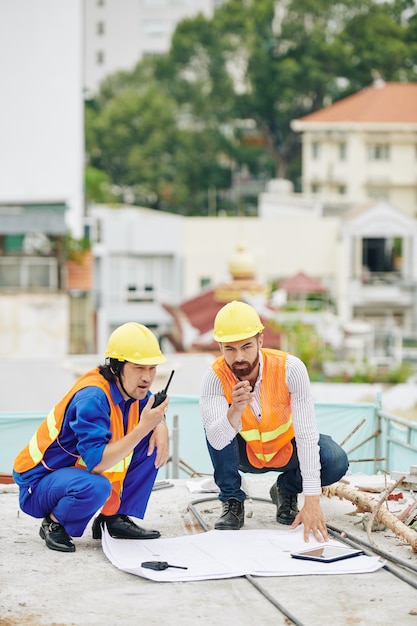
<svg viewBox="0 0 417 626"><path fill-rule="evenodd" d="M286 352L262 348L263 372L261 383L262 417L258 422L250 405L242 413L240 435L246 441L246 454L253 467L283 467L291 458L294 437L290 394L285 377ZM212 364L220 379L224 394L232 404L236 378L224 357Z"/></svg>

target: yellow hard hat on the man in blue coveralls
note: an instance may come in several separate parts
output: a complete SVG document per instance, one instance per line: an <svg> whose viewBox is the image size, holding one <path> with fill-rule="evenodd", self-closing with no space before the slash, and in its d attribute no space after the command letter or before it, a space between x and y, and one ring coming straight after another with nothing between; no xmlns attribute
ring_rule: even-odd
<svg viewBox="0 0 417 626"><path fill-rule="evenodd" d="M105 356L138 365L159 365L166 361L153 332L136 322L122 324L112 332Z"/></svg>

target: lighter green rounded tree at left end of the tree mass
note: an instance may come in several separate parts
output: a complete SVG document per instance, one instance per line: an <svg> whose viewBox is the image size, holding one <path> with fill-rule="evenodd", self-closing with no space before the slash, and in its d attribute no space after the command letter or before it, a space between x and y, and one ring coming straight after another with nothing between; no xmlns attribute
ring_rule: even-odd
<svg viewBox="0 0 417 626"><path fill-rule="evenodd" d="M89 198L110 193L120 202L204 214L207 189L230 185L219 159L227 140L218 125L187 121L156 76L155 60L145 60L112 75L87 104Z"/></svg>

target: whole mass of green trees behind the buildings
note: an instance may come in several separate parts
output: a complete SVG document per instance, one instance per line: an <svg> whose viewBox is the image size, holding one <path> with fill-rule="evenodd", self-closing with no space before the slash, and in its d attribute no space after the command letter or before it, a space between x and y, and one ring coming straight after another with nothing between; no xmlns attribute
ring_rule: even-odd
<svg viewBox="0 0 417 626"><path fill-rule="evenodd" d="M168 54L109 77L86 107L87 163L121 200L236 212L233 173L297 183L291 121L380 77L417 78L411 0L228 0L180 22ZM91 174L91 173L90 173Z"/></svg>

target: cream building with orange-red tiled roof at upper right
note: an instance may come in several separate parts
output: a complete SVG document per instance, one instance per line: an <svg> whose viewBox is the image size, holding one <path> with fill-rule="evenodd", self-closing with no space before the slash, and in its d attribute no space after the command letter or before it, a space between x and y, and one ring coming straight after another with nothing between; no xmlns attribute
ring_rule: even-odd
<svg viewBox="0 0 417 626"><path fill-rule="evenodd" d="M304 193L341 211L381 199L416 216L417 83L380 81L292 128L302 133Z"/></svg>

